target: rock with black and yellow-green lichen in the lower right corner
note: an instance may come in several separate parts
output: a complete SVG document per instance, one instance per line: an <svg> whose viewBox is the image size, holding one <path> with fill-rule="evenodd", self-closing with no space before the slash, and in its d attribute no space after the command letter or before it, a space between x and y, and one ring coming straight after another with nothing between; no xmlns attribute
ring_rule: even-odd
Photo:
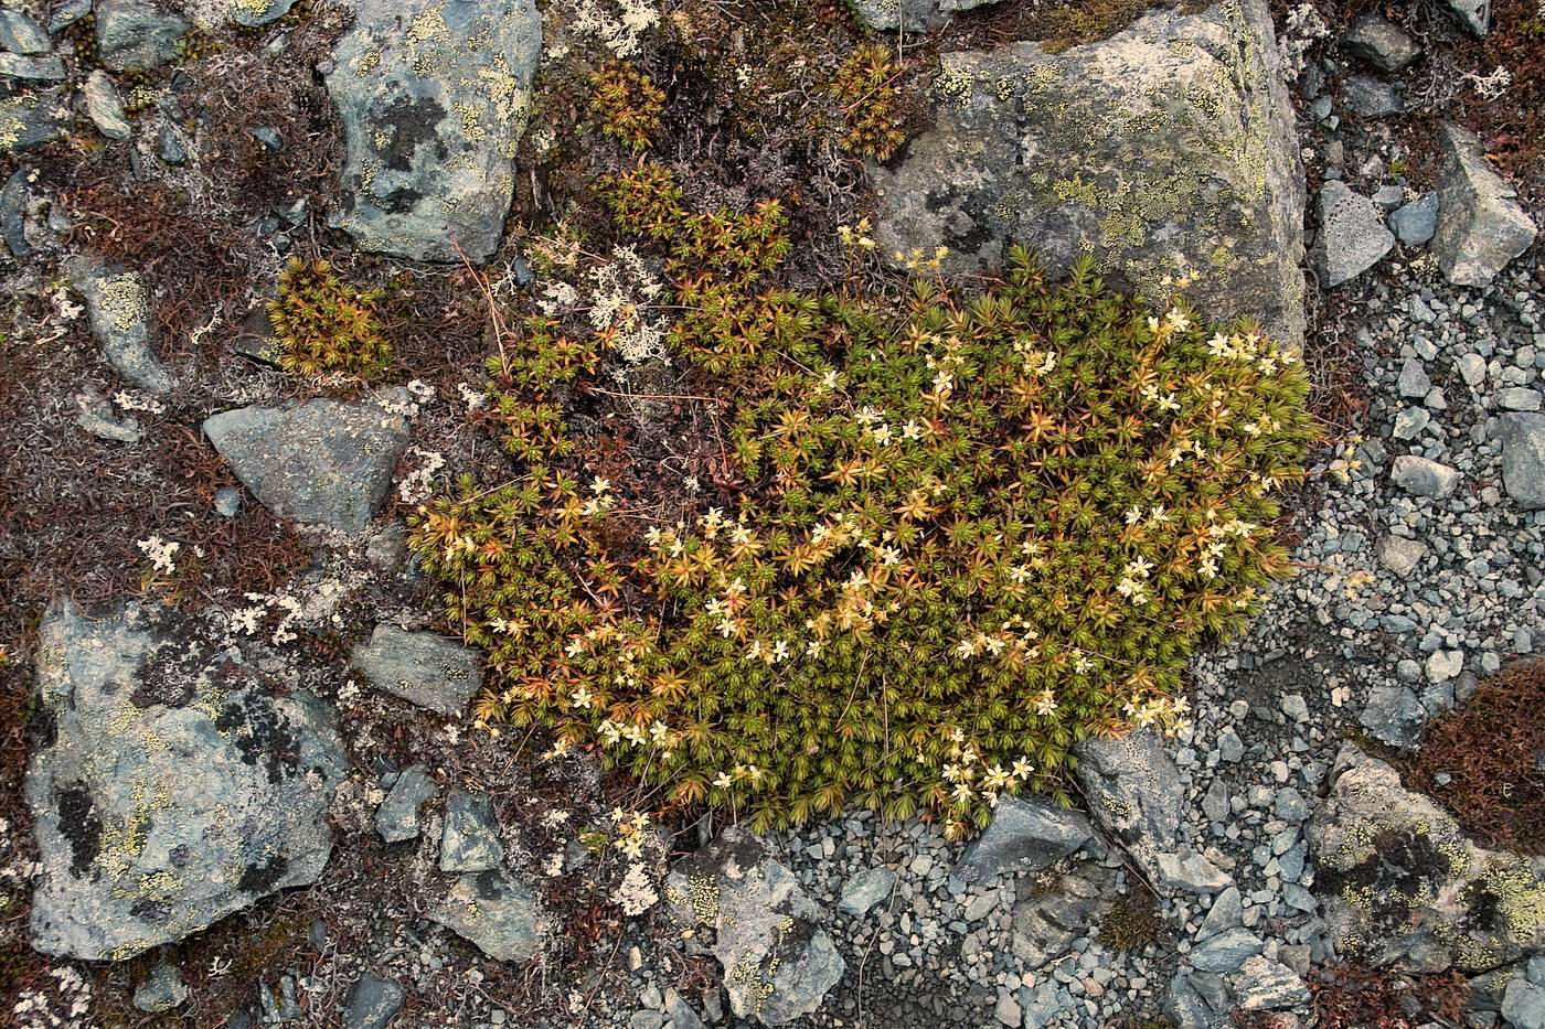
<svg viewBox="0 0 1545 1029"><path fill-rule="evenodd" d="M1309 824L1315 890L1341 953L1375 966L1480 972L1545 946L1545 882L1526 858L1488 851L1347 743Z"/></svg>

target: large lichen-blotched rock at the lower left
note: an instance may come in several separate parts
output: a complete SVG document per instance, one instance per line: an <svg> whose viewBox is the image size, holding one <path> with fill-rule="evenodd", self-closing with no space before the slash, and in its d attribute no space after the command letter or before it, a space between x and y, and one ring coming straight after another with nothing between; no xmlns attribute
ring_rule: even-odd
<svg viewBox="0 0 1545 1029"><path fill-rule="evenodd" d="M346 763L323 703L198 632L68 601L39 630L37 689L43 953L130 958L321 874Z"/></svg>

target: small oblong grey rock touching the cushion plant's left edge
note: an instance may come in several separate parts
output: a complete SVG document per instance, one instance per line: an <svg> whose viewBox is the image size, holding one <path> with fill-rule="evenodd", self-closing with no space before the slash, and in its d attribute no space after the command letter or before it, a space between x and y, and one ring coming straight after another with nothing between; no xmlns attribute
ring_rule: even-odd
<svg viewBox="0 0 1545 1029"><path fill-rule="evenodd" d="M477 650L434 632L383 623L368 644L354 647L351 660L377 689L447 717L460 715L482 686Z"/></svg>

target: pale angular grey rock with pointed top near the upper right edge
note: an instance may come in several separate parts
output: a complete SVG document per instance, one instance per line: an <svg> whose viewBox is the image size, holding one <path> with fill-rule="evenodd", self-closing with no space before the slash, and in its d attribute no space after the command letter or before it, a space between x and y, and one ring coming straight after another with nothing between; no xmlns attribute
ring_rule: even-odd
<svg viewBox="0 0 1545 1029"><path fill-rule="evenodd" d="M1455 286L1486 286L1537 235L1513 187L1486 164L1480 139L1445 122L1438 230L1432 252Z"/></svg>

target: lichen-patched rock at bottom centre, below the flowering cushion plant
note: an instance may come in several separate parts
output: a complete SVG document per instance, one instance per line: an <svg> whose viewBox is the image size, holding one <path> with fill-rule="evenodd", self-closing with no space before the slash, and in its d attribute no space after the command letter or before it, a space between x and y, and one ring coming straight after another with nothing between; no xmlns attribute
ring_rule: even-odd
<svg viewBox="0 0 1545 1029"><path fill-rule="evenodd" d="M789 1024L816 1010L847 967L794 873L740 828L672 868L666 902L678 922L715 930L714 956L742 1018Z"/></svg>

